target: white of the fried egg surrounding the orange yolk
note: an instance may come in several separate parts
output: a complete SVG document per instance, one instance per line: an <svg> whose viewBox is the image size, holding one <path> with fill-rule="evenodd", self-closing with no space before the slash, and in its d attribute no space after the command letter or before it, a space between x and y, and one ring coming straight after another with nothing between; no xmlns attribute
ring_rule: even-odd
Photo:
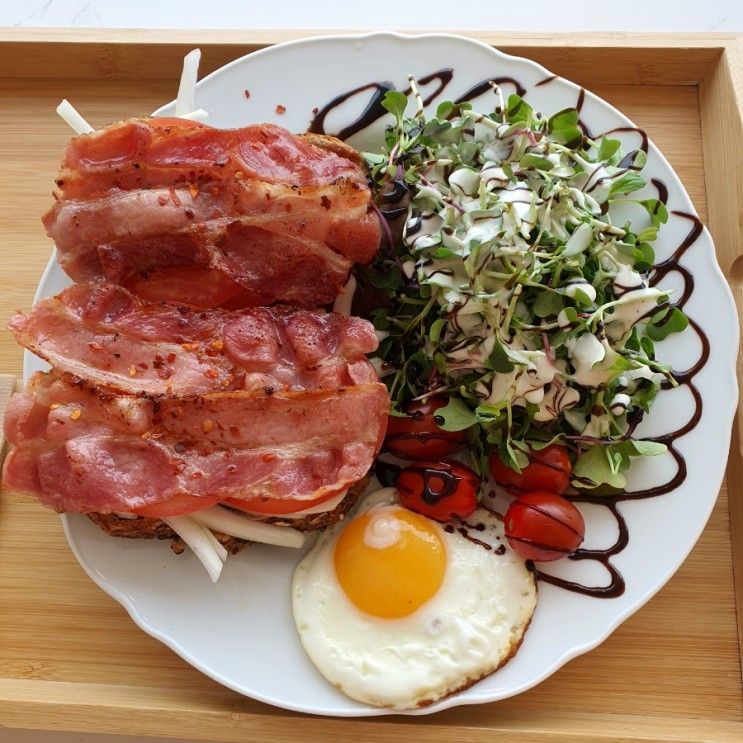
<svg viewBox="0 0 743 743"><path fill-rule="evenodd" d="M357 513L398 503L394 488L385 488ZM484 524L468 531L492 549L431 522L446 546L444 579L429 601L400 619L356 608L334 568L344 524L321 535L294 573L292 606L302 645L331 684L360 702L412 709L467 688L513 656L536 606L534 577L508 546L496 514L478 509L467 522Z"/></svg>

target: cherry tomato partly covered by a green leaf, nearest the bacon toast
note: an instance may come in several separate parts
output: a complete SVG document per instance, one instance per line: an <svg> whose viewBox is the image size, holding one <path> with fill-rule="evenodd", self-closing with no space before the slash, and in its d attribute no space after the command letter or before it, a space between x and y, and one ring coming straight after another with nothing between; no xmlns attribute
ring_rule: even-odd
<svg viewBox="0 0 743 743"><path fill-rule="evenodd" d="M464 431L444 431L436 425L436 411L448 400L441 395L414 402L407 418L391 415L387 422L385 448L402 459L436 459L455 452L466 440Z"/></svg>

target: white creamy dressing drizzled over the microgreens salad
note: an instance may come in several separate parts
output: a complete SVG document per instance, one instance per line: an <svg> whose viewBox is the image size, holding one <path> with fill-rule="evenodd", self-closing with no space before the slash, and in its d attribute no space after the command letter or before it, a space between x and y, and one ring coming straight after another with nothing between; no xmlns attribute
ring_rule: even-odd
<svg viewBox="0 0 743 743"><path fill-rule="evenodd" d="M648 287L643 276L623 264L621 253L612 242L625 236L624 229L602 217L602 204L610 196L616 174L610 175L602 163L589 162L544 137L540 139L539 134L534 136L478 114L467 116L465 138L482 145L478 158L483 164L453 166L447 159L429 162L422 170L425 180L417 187L404 229L404 241L412 253L441 247L454 257L428 253L417 262L406 261L403 272L408 278L416 274L420 284L430 285L433 296L451 313L442 331L443 340L450 343L446 354L450 373L456 377L481 371L483 379L475 389L483 402L535 405L535 420L554 420L580 401L579 390L570 387L568 381L597 389L617 375L612 367L619 354L612 343L626 338L667 293ZM527 148L552 165L549 175L553 186L546 195L540 190L544 180L537 171L520 166ZM598 249L604 270L615 274L611 284L613 301L601 318L603 334L584 331L565 340L567 362L555 362L551 352L542 350L539 336L524 341L523 333L512 333L508 327L514 316L526 325L535 322L519 299L522 283L511 286L506 282L514 263L523 266L523 274L528 275L532 268L539 270L540 260L549 259L533 249L535 228L565 241L558 255L567 259L569 267L579 268L583 254ZM486 249L477 250L483 245ZM565 297L587 304L586 312L596 312L596 288L589 281L579 276L571 279L570 275L569 269L555 288ZM545 325L545 332L555 327L552 324L550 328L548 321L536 321ZM566 310L558 313L557 326L561 330L569 332L575 324ZM508 373L488 374L489 359L498 339L515 366ZM525 348L524 343L536 343L539 347ZM657 381L662 375L644 366L623 372L618 384L624 391L614 395L612 413L620 416L626 412L631 402L629 394L641 378ZM608 413L592 416L584 433L604 436L608 426Z"/></svg>

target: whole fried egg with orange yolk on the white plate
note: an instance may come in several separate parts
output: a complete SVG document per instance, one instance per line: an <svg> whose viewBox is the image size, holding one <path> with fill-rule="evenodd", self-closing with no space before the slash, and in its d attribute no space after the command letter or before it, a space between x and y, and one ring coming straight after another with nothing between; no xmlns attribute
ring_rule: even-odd
<svg viewBox="0 0 743 743"><path fill-rule="evenodd" d="M331 684L360 702L405 710L508 661L536 593L492 511L440 524L385 488L320 536L294 573L292 605L302 645Z"/></svg>

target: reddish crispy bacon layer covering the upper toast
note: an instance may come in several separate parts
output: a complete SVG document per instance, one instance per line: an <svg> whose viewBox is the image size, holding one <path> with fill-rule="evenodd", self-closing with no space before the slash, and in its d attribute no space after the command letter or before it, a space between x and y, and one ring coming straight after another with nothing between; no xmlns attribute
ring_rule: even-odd
<svg viewBox="0 0 743 743"><path fill-rule="evenodd" d="M379 220L342 143L269 124L154 122L132 119L68 145L43 221L76 281L107 278L196 307L238 297L318 306L354 262L373 259ZM206 286L189 292L203 275Z"/></svg>

